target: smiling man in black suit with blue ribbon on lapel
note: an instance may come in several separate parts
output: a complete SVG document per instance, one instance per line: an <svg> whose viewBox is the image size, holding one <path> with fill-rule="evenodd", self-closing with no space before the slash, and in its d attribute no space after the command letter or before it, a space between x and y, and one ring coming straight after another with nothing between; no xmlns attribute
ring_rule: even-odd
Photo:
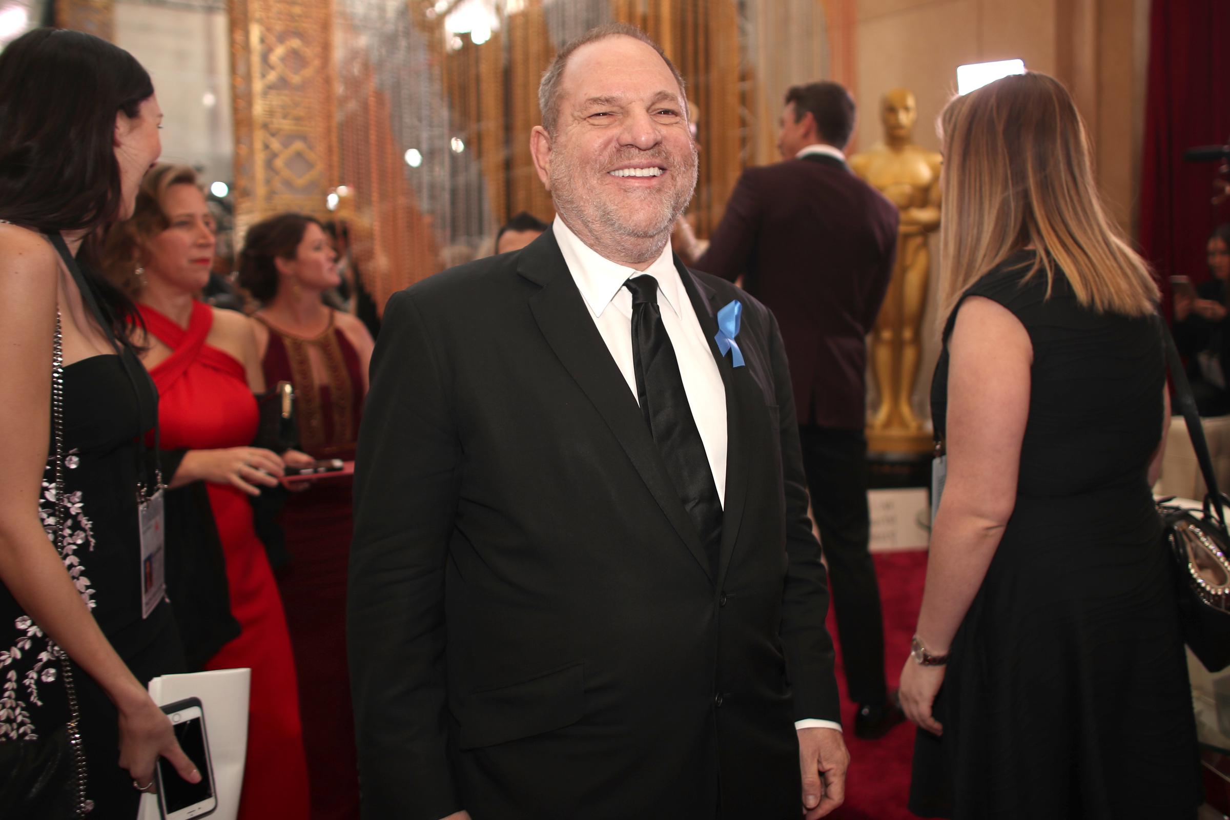
<svg viewBox="0 0 1230 820"><path fill-rule="evenodd" d="M396 294L373 359L363 816L823 816L849 755L795 403L772 315L672 256L683 81L608 26L540 107L551 230Z"/></svg>

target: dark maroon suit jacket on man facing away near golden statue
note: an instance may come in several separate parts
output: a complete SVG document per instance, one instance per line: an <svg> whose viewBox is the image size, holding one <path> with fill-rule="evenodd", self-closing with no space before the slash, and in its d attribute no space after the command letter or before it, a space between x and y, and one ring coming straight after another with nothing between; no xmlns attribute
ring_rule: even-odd
<svg viewBox="0 0 1230 820"><path fill-rule="evenodd" d="M696 267L744 277L781 323L798 418L866 424L867 333L888 289L899 214L836 157L809 155L739 177Z"/></svg>

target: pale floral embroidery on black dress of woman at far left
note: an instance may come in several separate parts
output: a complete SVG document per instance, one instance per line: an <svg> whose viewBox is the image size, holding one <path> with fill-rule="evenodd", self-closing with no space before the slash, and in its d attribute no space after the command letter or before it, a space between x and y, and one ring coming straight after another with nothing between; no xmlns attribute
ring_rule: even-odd
<svg viewBox="0 0 1230 820"><path fill-rule="evenodd" d="M76 456L75 450L64 459L64 466L69 470L76 470L80 463L81 460ZM93 525L85 515L80 492L65 495L62 505L58 505L55 500L55 463L53 457L48 459L44 470L38 518L42 520L43 529L52 543L55 543L57 531L60 535L63 545L60 558L64 561L64 568L76 585L81 600L85 601L86 606L93 609L95 590L85 574L81 558L76 554L82 545L86 551L93 550ZM58 508L64 511L63 521L58 518ZM41 684L53 684L59 680L57 663L64 656L64 653L43 634L43 631L28 615L17 617L14 627L17 632L14 645L0 650L0 674L2 674L0 676L0 740L38 740L38 734L31 720L30 707L43 704L38 693ZM18 661L25 663L18 664ZM18 666L27 664L28 669L25 671L18 669Z"/></svg>

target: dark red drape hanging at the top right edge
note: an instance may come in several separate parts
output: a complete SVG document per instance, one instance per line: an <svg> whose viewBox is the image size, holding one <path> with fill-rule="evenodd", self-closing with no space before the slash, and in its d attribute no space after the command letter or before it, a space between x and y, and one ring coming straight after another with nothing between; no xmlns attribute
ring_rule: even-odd
<svg viewBox="0 0 1230 820"><path fill-rule="evenodd" d="M1171 275L1208 279L1205 240L1230 221L1212 204L1218 164L1182 160L1230 139L1230 1L1153 0L1150 15L1140 245L1168 295Z"/></svg>

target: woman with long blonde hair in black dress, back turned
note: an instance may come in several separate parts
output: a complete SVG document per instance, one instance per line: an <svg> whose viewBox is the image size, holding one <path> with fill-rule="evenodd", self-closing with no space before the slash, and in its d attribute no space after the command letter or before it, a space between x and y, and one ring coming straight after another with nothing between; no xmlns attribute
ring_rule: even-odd
<svg viewBox="0 0 1230 820"><path fill-rule="evenodd" d="M931 407L947 481L902 706L910 809L1194 820L1199 763L1150 487L1168 427L1157 289L1097 200L1066 90L942 117Z"/></svg>

